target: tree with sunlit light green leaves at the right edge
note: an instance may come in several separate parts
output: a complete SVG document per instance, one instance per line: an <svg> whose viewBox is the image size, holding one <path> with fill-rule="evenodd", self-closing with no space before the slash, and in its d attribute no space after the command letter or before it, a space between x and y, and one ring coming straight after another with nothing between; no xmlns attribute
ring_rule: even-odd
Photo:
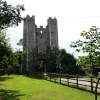
<svg viewBox="0 0 100 100"><path fill-rule="evenodd" d="M96 26L92 26L88 32L83 31L80 36L84 37L84 40L71 42L70 46L76 48L77 52L87 53L87 56L79 57L77 63L84 64L85 67L100 66L100 31Z"/></svg>

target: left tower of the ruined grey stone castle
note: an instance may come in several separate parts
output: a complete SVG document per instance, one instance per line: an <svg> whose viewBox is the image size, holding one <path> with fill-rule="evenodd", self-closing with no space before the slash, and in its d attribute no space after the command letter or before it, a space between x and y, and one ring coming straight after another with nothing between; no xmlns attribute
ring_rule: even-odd
<svg viewBox="0 0 100 100"><path fill-rule="evenodd" d="M25 71L33 69L33 51L36 48L35 17L27 17L24 20L23 50L26 51L24 60ZM24 67L23 66L23 67ZM24 69L24 68L23 68Z"/></svg>

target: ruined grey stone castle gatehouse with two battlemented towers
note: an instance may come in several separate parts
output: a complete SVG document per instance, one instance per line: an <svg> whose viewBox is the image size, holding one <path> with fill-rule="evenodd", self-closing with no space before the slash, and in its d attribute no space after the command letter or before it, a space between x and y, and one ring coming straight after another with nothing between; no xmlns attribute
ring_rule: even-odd
<svg viewBox="0 0 100 100"><path fill-rule="evenodd" d="M33 72L35 54L46 54L49 49L58 47L57 19L51 17L47 20L47 26L39 28L35 24L35 16L26 16L23 32L23 72Z"/></svg>

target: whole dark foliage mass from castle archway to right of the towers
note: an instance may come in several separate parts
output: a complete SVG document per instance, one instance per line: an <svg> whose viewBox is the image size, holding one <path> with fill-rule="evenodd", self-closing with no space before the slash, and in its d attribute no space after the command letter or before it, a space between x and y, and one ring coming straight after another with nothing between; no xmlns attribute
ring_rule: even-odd
<svg viewBox="0 0 100 100"><path fill-rule="evenodd" d="M44 57L38 59L36 68L49 73L80 74L82 72L76 65L74 56L58 48L53 48Z"/></svg>

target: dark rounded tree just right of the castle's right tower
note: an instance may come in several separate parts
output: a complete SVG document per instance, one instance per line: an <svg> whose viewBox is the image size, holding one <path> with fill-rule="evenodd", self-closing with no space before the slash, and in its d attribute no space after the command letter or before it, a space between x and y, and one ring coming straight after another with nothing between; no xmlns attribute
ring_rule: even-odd
<svg viewBox="0 0 100 100"><path fill-rule="evenodd" d="M61 73L64 74L82 74L83 71L76 65L76 58L64 49L61 51Z"/></svg>

